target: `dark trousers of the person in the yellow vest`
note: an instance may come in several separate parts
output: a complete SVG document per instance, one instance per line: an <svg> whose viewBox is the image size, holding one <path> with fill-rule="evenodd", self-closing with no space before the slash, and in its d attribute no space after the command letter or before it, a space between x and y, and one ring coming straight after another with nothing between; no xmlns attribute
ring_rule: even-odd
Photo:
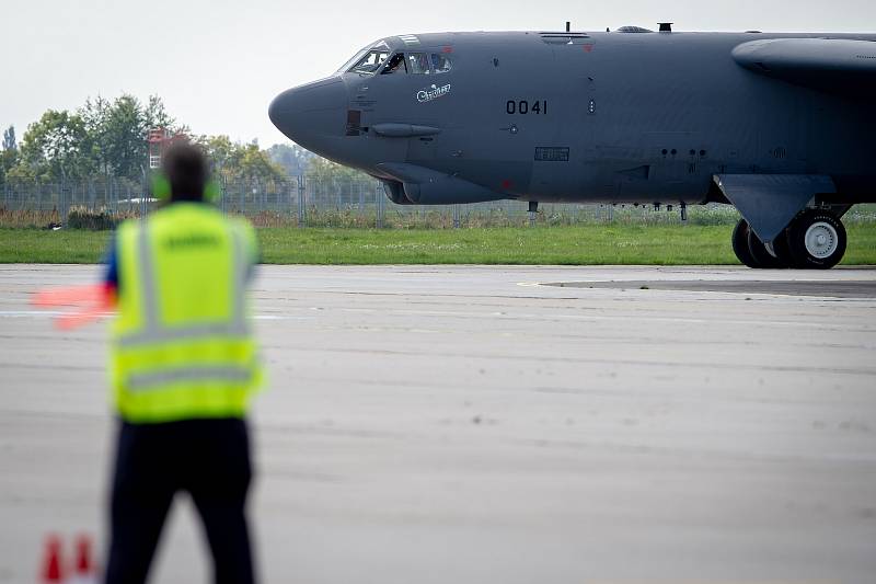
<svg viewBox="0 0 876 584"><path fill-rule="evenodd" d="M189 493L204 523L212 552L214 581L254 582L245 516L251 478L250 439L243 420L122 422L106 583L146 581L177 491Z"/></svg>

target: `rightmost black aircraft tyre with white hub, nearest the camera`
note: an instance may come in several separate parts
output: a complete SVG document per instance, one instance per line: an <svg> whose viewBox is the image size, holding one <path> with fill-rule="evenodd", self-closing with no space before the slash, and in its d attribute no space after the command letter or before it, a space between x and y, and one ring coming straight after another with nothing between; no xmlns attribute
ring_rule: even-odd
<svg viewBox="0 0 876 584"><path fill-rule="evenodd" d="M787 242L795 267L828 270L845 254L845 227L830 211L808 209L791 222Z"/></svg>

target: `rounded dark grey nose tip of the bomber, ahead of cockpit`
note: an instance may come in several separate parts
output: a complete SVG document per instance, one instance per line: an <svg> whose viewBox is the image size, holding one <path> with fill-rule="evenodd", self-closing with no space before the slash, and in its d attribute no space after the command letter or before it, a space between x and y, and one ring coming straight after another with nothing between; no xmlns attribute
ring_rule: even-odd
<svg viewBox="0 0 876 584"><path fill-rule="evenodd" d="M287 89L270 102L268 117L291 140L306 142L319 136L343 136L347 91L341 78Z"/></svg>

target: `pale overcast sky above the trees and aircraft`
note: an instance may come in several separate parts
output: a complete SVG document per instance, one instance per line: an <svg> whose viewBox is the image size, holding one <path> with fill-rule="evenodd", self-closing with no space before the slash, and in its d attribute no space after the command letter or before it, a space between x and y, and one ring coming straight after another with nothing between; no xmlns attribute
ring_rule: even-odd
<svg viewBox="0 0 876 584"><path fill-rule="evenodd" d="M0 125L19 137L47 108L123 92L164 99L196 134L286 138L267 118L286 88L404 33L599 31L876 32L876 0L0 0Z"/></svg>

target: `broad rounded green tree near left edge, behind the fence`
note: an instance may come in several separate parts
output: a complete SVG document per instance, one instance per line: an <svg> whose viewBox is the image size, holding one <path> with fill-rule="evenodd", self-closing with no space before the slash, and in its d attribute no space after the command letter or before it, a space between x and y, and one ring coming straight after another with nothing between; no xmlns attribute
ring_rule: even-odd
<svg viewBox="0 0 876 584"><path fill-rule="evenodd" d="M10 176L57 181L96 170L85 123L79 114L49 110L27 126Z"/></svg>

